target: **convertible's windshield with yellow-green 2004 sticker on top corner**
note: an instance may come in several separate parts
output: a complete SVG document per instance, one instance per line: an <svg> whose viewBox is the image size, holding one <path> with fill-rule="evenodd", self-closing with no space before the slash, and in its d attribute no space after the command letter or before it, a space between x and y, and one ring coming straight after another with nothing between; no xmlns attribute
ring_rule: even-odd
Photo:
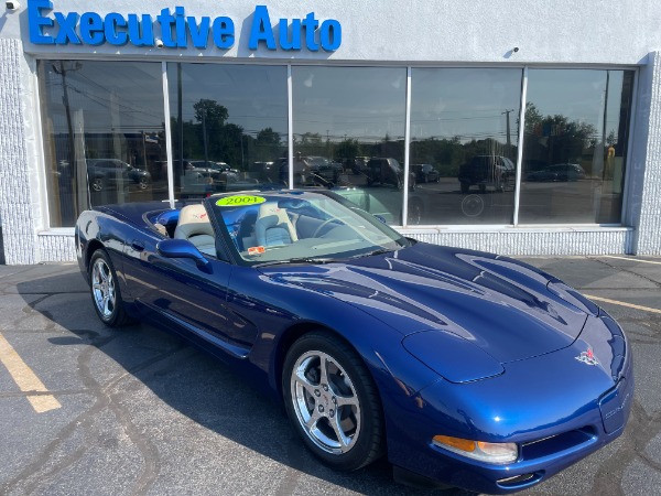
<svg viewBox="0 0 661 496"><path fill-rule="evenodd" d="M246 265L325 263L409 246L399 233L330 192L242 192L207 201Z"/></svg>

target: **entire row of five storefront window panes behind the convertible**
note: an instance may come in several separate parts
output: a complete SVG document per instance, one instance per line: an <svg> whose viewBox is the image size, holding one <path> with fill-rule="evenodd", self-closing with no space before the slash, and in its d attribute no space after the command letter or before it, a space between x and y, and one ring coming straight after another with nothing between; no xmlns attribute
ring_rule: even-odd
<svg viewBox="0 0 661 496"><path fill-rule="evenodd" d="M37 73L52 227L169 198L160 63ZM293 186L392 225L619 224L633 72L528 74L518 212L519 68L412 68L407 161L405 68L293 66ZM290 186L286 66L169 63L167 78L176 198Z"/></svg>

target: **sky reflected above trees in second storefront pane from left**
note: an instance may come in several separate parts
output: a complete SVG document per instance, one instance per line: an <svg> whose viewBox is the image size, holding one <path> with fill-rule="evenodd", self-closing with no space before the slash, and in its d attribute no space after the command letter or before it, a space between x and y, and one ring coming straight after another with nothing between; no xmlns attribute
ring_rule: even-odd
<svg viewBox="0 0 661 496"><path fill-rule="evenodd" d="M170 112L176 117L176 64L167 65ZM286 67L267 65L182 64L182 114L184 121L197 122L195 105L215 100L227 108L228 123L257 136L271 128L288 133Z"/></svg>

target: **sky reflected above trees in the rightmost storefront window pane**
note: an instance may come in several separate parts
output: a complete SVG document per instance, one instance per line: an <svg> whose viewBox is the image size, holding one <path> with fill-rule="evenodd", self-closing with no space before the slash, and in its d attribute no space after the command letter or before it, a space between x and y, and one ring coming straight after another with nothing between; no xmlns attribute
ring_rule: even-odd
<svg viewBox="0 0 661 496"><path fill-rule="evenodd" d="M622 93L622 71L603 69L530 69L528 72L528 101L542 116L565 116L570 121L593 125L602 132L606 74L608 75L608 108L606 133L619 126Z"/></svg>

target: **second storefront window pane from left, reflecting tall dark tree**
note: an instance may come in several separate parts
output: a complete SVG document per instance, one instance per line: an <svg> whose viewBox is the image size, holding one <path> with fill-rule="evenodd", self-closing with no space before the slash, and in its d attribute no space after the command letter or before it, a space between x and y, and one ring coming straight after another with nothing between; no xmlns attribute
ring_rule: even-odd
<svg viewBox="0 0 661 496"><path fill-rule="evenodd" d="M175 197L285 185L286 67L167 64L167 80Z"/></svg>

